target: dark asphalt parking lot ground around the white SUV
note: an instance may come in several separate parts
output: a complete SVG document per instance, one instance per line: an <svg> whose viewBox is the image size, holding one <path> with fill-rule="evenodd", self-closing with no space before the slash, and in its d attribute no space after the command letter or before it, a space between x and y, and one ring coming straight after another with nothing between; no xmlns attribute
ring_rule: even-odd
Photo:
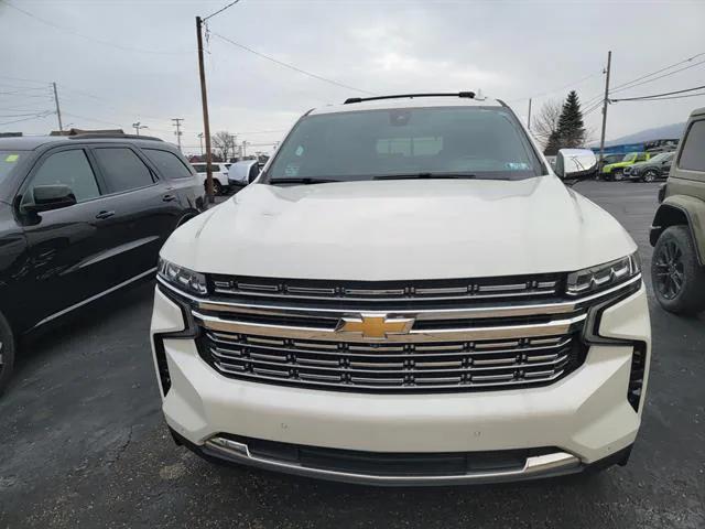
<svg viewBox="0 0 705 529"><path fill-rule="evenodd" d="M625 225L648 266L657 187L577 188ZM152 288L115 295L24 344L0 399L1 528L705 527L705 315L676 317L650 298L649 396L627 467L517 485L379 489L214 466L175 446L149 350Z"/></svg>

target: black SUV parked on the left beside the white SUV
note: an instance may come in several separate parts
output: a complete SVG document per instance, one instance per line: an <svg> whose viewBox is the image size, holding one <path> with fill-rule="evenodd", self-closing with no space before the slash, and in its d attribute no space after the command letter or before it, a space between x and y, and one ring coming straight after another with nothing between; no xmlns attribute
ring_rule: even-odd
<svg viewBox="0 0 705 529"><path fill-rule="evenodd" d="M184 156L158 139L0 139L0 391L17 338L156 270L204 207Z"/></svg>

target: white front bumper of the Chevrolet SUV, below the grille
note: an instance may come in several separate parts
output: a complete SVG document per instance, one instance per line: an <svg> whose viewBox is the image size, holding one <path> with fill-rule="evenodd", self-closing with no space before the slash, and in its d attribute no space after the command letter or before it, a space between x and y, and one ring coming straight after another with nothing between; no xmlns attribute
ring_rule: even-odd
<svg viewBox="0 0 705 529"><path fill-rule="evenodd" d="M152 333L184 327L181 309L159 290ZM583 366L544 387L434 395L370 395L311 390L228 379L208 366L193 339L166 338L162 350L171 387L163 401L176 435L204 455L254 466L377 484L516 481L578 472L611 461L634 442L650 355L646 290L606 309L601 336L646 346L638 411L627 400L632 347L593 345ZM161 386L161 382L160 382ZM163 389L163 388L162 388ZM164 392L162 391L162 395ZM372 454L479 453L554 447L521 468L447 476L330 474L253 456L235 436ZM623 457L623 455L622 455Z"/></svg>

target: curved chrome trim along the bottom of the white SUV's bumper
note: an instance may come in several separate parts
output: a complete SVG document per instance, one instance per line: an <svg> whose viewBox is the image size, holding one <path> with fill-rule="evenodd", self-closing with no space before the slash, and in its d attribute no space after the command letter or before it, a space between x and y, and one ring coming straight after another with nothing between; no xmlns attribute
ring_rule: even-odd
<svg viewBox="0 0 705 529"><path fill-rule="evenodd" d="M383 474L358 474L324 468L313 468L295 463L254 456L248 445L230 439L214 436L205 443L205 447L227 460L260 468L279 471L300 476L316 477L347 483L382 486L427 486L460 485L473 483L513 482L536 477L568 474L581 469L581 460L566 452L527 457L523 468L511 471L475 472L470 474L398 476Z"/></svg>

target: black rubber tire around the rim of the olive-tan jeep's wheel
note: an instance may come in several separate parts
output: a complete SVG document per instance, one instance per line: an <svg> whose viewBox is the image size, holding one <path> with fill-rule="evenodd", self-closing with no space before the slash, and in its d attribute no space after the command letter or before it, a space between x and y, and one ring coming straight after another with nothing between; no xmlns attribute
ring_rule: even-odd
<svg viewBox="0 0 705 529"><path fill-rule="evenodd" d="M679 248L683 263L683 284L673 299L668 299L660 289L662 280L657 264L657 257L669 242ZM651 281L657 300L666 311L688 315L705 310L705 267L697 262L695 244L687 226L671 226L659 237L651 259Z"/></svg>

